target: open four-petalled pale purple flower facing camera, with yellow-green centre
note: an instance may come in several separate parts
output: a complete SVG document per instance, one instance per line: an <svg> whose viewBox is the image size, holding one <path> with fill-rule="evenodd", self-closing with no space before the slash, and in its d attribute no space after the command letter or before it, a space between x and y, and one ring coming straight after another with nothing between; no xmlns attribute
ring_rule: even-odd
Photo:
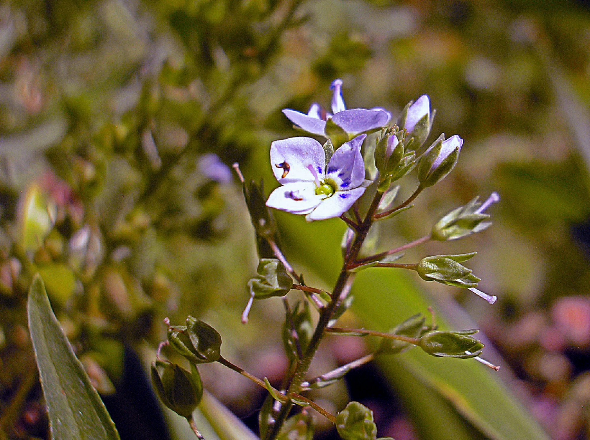
<svg viewBox="0 0 590 440"><path fill-rule="evenodd" d="M274 141L270 163L282 186L270 194L266 206L306 215L308 221L340 217L371 183L365 180L360 155L365 137L363 134L343 144L327 164L322 144L313 138Z"/></svg>

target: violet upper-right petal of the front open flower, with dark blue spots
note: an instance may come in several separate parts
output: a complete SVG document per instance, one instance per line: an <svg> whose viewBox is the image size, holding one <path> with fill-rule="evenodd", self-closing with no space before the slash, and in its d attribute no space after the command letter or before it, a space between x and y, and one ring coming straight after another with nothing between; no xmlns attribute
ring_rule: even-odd
<svg viewBox="0 0 590 440"><path fill-rule="evenodd" d="M332 155L326 174L336 182L337 189L356 188L365 179L365 162L360 154L360 147L365 138L366 134L355 137L342 144L342 147Z"/></svg>

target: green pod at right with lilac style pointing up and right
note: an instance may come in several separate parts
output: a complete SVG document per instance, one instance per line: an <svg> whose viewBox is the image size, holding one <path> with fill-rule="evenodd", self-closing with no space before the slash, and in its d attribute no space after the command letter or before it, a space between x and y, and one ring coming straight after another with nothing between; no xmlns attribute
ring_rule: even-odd
<svg viewBox="0 0 590 440"><path fill-rule="evenodd" d="M430 237L432 240L445 241L457 240L470 234L483 231L490 226L490 218L483 210L489 204L499 200L497 193L492 193L490 198L482 205L477 203L478 197L471 200L465 206L460 206L440 219L432 227Z"/></svg>

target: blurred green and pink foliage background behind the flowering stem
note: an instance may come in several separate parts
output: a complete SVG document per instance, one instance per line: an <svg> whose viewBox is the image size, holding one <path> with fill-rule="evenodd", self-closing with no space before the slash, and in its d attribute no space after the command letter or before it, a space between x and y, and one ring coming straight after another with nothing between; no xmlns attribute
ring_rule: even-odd
<svg viewBox="0 0 590 440"><path fill-rule="evenodd" d="M314 397L332 412L361 401L396 440L542 438L535 419L551 438L589 438L590 4L549 0L2 2L0 438L48 438L25 311L37 271L124 439L181 438L143 373L165 316L211 323L226 358L280 382L282 305L257 302L240 323L254 231L217 160L268 193L271 141L298 134L280 110L329 104L335 78L348 107L394 120L428 94L431 140L465 140L455 171L383 224L380 247L501 196L490 229L407 253L477 250L470 267L496 305L369 269L343 320L386 331L432 305L443 326L481 328L502 369L410 351ZM342 222L277 220L296 268L329 288ZM313 372L368 343L326 338ZM255 429L263 391L207 367L206 388ZM336 438L317 422L317 438Z"/></svg>

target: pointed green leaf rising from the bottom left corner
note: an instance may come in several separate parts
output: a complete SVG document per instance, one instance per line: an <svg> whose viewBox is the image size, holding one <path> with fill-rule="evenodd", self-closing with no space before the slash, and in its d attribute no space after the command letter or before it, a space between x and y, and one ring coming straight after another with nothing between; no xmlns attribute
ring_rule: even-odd
<svg viewBox="0 0 590 440"><path fill-rule="evenodd" d="M51 310L39 275L33 279L27 305L52 438L118 440L109 413Z"/></svg>

